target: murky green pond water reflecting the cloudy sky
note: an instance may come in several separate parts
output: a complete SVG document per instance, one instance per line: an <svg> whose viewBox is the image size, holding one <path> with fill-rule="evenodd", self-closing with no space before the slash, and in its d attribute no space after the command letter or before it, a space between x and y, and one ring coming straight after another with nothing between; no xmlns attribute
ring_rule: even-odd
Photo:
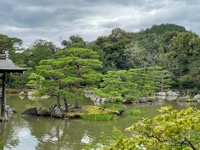
<svg viewBox="0 0 200 150"><path fill-rule="evenodd" d="M142 117L153 117L157 109L172 105L174 109L189 106L200 108L200 104L161 103L129 105L128 109L140 109L140 116L122 115L114 121L62 120L47 117L22 117L20 114L30 107L50 106L53 98L40 101L20 99L18 95L8 95L7 104L15 108L17 114L8 122L0 123L0 138L4 140L4 150L81 150L85 143L97 142L102 132L111 135L114 127L121 131L137 122ZM81 101L81 105L93 104L90 100Z"/></svg>

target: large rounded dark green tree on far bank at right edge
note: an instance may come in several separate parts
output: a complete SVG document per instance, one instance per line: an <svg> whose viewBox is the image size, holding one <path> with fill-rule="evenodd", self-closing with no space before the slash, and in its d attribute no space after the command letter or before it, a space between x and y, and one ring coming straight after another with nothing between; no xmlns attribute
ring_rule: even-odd
<svg viewBox="0 0 200 150"><path fill-rule="evenodd" d="M177 76L180 88L200 87L200 38L193 32L179 33L172 39L168 58L169 69Z"/></svg>

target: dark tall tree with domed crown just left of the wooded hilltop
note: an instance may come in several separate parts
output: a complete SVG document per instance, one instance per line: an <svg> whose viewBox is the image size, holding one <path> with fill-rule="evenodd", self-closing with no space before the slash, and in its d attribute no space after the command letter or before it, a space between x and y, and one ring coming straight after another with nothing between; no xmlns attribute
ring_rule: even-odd
<svg viewBox="0 0 200 150"><path fill-rule="evenodd" d="M98 37L96 45L105 52L106 67L113 69L127 69L124 57L126 44L131 42L131 33L120 28L112 30L109 36Z"/></svg>

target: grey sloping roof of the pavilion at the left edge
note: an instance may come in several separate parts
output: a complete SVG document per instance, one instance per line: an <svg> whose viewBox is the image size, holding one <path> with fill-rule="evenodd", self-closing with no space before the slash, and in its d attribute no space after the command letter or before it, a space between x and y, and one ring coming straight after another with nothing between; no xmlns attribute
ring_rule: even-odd
<svg viewBox="0 0 200 150"><path fill-rule="evenodd" d="M18 72L23 73L26 69L16 66L12 60L8 59L7 57L0 56L0 73L11 73L11 72Z"/></svg>

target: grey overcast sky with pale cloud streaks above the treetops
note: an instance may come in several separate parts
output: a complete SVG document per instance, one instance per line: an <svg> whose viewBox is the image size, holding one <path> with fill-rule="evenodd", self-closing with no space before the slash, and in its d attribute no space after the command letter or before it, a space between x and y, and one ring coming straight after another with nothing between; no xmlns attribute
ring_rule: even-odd
<svg viewBox="0 0 200 150"><path fill-rule="evenodd" d="M200 35L200 0L0 0L0 34L60 45L71 35L86 41L119 27L137 32L174 23Z"/></svg>

